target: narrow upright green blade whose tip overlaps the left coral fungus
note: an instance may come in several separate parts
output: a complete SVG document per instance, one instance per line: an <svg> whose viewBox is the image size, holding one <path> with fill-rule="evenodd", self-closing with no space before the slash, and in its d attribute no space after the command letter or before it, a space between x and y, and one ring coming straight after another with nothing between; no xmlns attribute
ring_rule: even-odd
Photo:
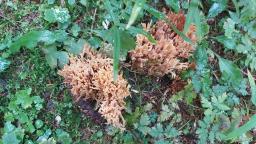
<svg viewBox="0 0 256 144"><path fill-rule="evenodd" d="M120 56L120 49L121 49L121 37L120 31L117 27L114 26L113 28L113 46L114 46L114 53L113 53L113 72L114 72L114 81L118 78L118 65L119 65L119 56Z"/></svg>

